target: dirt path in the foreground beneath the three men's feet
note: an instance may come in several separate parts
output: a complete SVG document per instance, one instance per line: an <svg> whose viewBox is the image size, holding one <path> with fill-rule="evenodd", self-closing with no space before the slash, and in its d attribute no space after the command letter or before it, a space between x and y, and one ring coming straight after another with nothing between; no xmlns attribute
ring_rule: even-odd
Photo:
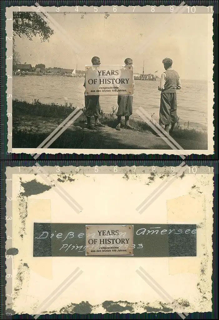
<svg viewBox="0 0 219 320"><path fill-rule="evenodd" d="M18 119L17 119L18 120ZM59 125L57 119L37 117L22 117L19 119L19 127L27 130L28 143L39 136L41 142ZM29 133L28 133L29 132ZM37 135L38 134L38 135ZM31 135L33 136L31 139ZM34 142L33 141L33 142ZM128 129L116 131L111 127L89 130L85 123L74 123L51 145L51 148L94 148L94 149L171 149L160 137L151 132L139 132ZM184 149L202 149L203 142L187 139L177 139ZM37 143L39 143L37 141ZM16 143L17 144L17 143ZM19 146L16 146L19 147ZM31 146L28 147L37 147Z"/></svg>

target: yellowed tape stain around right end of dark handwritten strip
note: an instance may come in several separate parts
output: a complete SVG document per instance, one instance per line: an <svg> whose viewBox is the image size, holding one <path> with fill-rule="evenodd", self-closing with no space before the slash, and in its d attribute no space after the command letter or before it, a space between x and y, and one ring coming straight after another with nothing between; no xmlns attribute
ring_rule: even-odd
<svg viewBox="0 0 219 320"><path fill-rule="evenodd" d="M202 244L206 244L205 213L205 195L203 194L188 194L167 200L168 223L191 223L203 226L197 228L197 256L170 257L170 275L178 273L200 274L200 264L203 259Z"/></svg>

